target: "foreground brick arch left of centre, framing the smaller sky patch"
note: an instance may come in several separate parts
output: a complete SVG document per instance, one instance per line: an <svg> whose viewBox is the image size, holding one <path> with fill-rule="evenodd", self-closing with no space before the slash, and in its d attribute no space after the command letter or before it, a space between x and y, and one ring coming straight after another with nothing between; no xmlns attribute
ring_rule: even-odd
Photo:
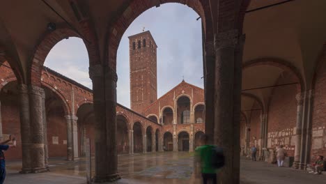
<svg viewBox="0 0 326 184"><path fill-rule="evenodd" d="M81 36L79 36L76 31L70 29L68 26L57 25L56 30L45 32L42 38L40 38L38 46L36 46L33 55L31 56L32 61L29 68L30 76L28 76L29 84L33 84L36 86L41 85L40 77L42 75L42 68L47 55L49 54L50 50L54 47L54 45L56 45L65 38L81 38L84 41L85 47L88 52L90 66L93 66L96 63L100 63L98 46L96 44L97 40L95 40L95 36L93 36L93 29L91 29L88 24L85 24L85 22L81 24L85 31L83 36L86 40L81 38Z"/></svg>

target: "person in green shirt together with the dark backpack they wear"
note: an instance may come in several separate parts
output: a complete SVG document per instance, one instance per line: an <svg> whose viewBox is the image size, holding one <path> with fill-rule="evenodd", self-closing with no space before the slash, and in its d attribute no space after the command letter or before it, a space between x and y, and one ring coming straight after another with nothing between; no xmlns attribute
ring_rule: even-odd
<svg viewBox="0 0 326 184"><path fill-rule="evenodd" d="M208 145L208 135L201 136L201 145L195 151L195 176L199 178L199 169L196 163L200 166L200 173L203 178L203 184L208 182L217 183L217 172L224 166L224 155L222 148Z"/></svg>

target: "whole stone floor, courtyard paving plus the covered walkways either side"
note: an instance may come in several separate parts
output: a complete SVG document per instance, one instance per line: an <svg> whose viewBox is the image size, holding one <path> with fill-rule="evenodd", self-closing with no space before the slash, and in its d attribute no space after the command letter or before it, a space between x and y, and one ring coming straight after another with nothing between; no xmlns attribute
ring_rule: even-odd
<svg viewBox="0 0 326 184"><path fill-rule="evenodd" d="M20 161L7 162L8 184L19 183L86 183L85 160L68 162L62 158L49 160L51 172L42 174L18 174ZM194 178L193 153L147 153L118 156L118 172L123 178L116 183L201 183ZM93 169L94 170L94 169ZM308 174L290 168L279 168L267 162L241 160L242 184L306 184L326 183L325 175Z"/></svg>

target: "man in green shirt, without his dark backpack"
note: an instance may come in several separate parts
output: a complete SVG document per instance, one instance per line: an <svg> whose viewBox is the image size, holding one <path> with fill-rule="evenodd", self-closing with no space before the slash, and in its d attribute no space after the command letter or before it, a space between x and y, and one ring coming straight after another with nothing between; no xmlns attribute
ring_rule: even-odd
<svg viewBox="0 0 326 184"><path fill-rule="evenodd" d="M203 184L212 181L212 183L217 183L217 169L212 167L212 148L215 146L208 145L208 135L201 136L201 145L196 148L195 151L195 163L200 164L201 176L203 177ZM197 169L195 164L195 169ZM195 171L198 175L199 171Z"/></svg>

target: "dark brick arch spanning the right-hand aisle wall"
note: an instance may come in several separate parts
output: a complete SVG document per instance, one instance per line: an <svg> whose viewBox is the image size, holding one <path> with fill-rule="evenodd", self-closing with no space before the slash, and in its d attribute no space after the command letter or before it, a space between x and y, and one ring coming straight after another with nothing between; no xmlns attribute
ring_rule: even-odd
<svg viewBox="0 0 326 184"><path fill-rule="evenodd" d="M279 59L275 57L265 57L265 58L259 58L259 59L253 59L250 61L245 61L242 64L242 70L245 70L250 67L254 66L274 66L277 68L281 68L285 70L286 72L290 72L290 74L294 75L297 78L297 81L300 84L300 87L298 91L304 91L306 85L304 83L304 79L300 73L300 70L298 70L295 66L293 66L292 63L289 61L286 61L284 59Z"/></svg>

